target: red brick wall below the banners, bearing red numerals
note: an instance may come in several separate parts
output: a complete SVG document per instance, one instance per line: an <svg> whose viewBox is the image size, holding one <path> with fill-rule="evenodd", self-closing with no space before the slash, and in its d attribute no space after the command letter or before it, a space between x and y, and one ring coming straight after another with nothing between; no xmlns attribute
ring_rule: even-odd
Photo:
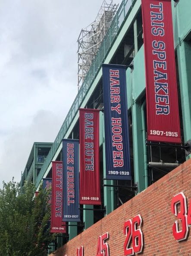
<svg viewBox="0 0 191 256"><path fill-rule="evenodd" d="M123 256L124 222L141 214L144 249L138 255L191 256L191 232L188 232L187 240L181 242L176 241L172 235L172 225L176 217L171 213L171 201L179 192L185 194L188 204L191 200L191 159L51 255L76 256L77 248L83 245L84 256L96 256L98 237L109 232L107 242L110 247L110 256Z"/></svg>

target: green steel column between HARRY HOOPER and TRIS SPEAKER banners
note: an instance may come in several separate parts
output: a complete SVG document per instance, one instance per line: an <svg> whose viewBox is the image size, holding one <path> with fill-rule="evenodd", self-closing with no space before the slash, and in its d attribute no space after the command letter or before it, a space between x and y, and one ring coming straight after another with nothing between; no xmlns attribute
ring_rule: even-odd
<svg viewBox="0 0 191 256"><path fill-rule="evenodd" d="M133 157L134 157L134 178L138 182L138 193L143 191L145 186L144 170L144 147L141 105L134 102L132 105L132 128L133 128Z"/></svg>

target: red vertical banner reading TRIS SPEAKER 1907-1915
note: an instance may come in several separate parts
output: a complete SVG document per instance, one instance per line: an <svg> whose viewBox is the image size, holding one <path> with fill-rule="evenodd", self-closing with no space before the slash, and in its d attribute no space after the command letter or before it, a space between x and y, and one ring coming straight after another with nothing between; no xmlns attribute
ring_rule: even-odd
<svg viewBox="0 0 191 256"><path fill-rule="evenodd" d="M148 140L180 143L171 0L141 0Z"/></svg>

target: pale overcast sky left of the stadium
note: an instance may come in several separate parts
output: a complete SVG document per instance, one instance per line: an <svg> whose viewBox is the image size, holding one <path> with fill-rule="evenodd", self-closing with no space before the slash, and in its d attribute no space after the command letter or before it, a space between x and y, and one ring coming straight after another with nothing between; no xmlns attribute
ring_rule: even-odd
<svg viewBox="0 0 191 256"><path fill-rule="evenodd" d="M0 187L53 142L77 94L77 39L103 0L0 0ZM113 0L121 3L121 0Z"/></svg>

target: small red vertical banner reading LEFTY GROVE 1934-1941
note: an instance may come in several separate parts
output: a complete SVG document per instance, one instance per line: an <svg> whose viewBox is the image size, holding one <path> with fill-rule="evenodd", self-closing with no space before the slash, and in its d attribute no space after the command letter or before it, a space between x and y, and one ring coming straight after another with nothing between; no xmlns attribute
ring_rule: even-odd
<svg viewBox="0 0 191 256"><path fill-rule="evenodd" d="M66 233L63 212L63 163L52 162L52 203L50 233Z"/></svg>

